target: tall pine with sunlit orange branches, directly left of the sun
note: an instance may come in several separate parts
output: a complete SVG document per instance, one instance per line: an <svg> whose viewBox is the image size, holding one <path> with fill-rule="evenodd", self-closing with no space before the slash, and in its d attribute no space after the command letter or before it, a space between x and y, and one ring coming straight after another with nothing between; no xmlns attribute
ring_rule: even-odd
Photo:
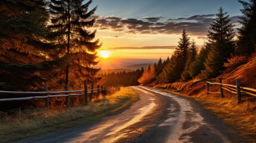
<svg viewBox="0 0 256 143"><path fill-rule="evenodd" d="M88 20L94 14L97 7L88 11L92 1L83 4L84 0L51 0L50 9L53 18L50 27L54 32L61 34L60 43L66 49L64 55L74 55L72 61L66 66L66 83L69 82L69 67L71 73L75 73L76 80L87 80L94 82L94 76L99 69L91 66L96 65L97 53L95 49L100 48L99 40L92 41L95 38L96 31L91 32L88 27L92 27L95 19ZM92 53L92 54L91 54ZM76 82L72 79L72 84Z"/></svg>

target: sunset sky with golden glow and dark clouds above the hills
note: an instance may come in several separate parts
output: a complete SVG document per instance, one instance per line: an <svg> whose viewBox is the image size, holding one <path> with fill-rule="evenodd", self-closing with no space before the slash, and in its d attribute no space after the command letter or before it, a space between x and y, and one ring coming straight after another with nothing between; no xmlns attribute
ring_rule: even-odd
<svg viewBox="0 0 256 143"><path fill-rule="evenodd" d="M243 8L237 0L94 0L90 8L96 5L99 50L112 58L141 59L171 57L184 28L200 48L220 7L236 27Z"/></svg>

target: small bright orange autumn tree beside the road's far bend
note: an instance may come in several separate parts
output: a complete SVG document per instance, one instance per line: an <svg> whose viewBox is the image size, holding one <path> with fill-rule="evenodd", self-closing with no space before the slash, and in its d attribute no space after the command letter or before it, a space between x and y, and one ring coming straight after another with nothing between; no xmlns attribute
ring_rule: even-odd
<svg viewBox="0 0 256 143"><path fill-rule="evenodd" d="M155 80L155 77L155 67L153 66L153 64L150 64L149 69L144 70L142 76L140 77L140 79L138 79L138 82L143 85L147 85L149 83L152 83L153 80Z"/></svg>

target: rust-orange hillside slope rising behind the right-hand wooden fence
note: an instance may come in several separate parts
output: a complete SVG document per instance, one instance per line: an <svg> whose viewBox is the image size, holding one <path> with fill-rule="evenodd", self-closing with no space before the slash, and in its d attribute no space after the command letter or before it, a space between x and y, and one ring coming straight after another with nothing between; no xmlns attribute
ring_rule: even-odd
<svg viewBox="0 0 256 143"><path fill-rule="evenodd" d="M236 79L240 79L241 86L256 88L256 53L248 57L244 64L238 64L235 67L227 67L220 76L208 81L217 82L223 79L223 83L236 85ZM196 95L206 89L206 80L193 79L189 82L175 82L163 85L156 85L155 88L171 89L187 95Z"/></svg>

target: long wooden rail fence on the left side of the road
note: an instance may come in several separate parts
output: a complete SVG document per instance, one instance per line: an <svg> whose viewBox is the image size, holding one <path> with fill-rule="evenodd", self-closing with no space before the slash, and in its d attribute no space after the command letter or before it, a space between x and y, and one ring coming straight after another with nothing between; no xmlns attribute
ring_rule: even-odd
<svg viewBox="0 0 256 143"><path fill-rule="evenodd" d="M43 92L19 92L19 91L0 91L0 94L29 94L29 95L40 95L40 96L34 96L34 97L20 97L20 98L2 98L0 101L19 101L19 100L33 100L33 99L44 99L45 100L45 107L49 108L49 98L66 98L66 105L69 107L69 98L73 96L85 96L85 104L88 104L88 102L91 102L92 100L92 94L98 93L105 96L107 94L106 88L100 85L97 85L97 88L94 89L94 85L91 85L91 89L87 89L87 82L84 82L84 89L78 90L78 91L69 91L69 85L66 84L66 91L48 91L48 86L45 85ZM90 95L89 95L90 94ZM89 101L88 101L88 96Z"/></svg>

